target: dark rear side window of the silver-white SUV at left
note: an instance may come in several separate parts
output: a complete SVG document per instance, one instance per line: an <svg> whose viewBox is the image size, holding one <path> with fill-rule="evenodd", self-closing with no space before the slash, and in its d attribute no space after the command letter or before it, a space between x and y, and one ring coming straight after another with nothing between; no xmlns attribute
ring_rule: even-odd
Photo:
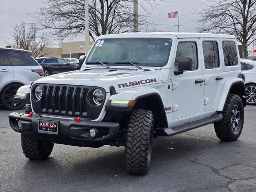
<svg viewBox="0 0 256 192"><path fill-rule="evenodd" d="M12 66L38 65L26 52L4 51L8 56ZM28 60L28 58L30 59ZM31 62L32 60L32 62Z"/></svg>

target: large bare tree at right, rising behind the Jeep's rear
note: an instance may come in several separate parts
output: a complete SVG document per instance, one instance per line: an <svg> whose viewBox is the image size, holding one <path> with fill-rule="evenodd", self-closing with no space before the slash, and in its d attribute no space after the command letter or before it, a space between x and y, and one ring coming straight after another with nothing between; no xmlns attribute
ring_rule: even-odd
<svg viewBox="0 0 256 192"><path fill-rule="evenodd" d="M198 10L200 32L235 35L242 43L243 57L248 57L248 46L255 41L256 0L216 0Z"/></svg>

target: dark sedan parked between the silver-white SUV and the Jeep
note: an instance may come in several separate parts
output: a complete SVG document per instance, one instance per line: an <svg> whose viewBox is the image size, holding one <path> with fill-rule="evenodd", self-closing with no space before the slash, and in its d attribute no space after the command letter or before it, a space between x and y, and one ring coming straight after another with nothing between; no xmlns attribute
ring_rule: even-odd
<svg viewBox="0 0 256 192"><path fill-rule="evenodd" d="M44 76L74 71L79 68L78 64L70 63L67 60L60 57L40 57L35 60L42 66L44 70Z"/></svg>

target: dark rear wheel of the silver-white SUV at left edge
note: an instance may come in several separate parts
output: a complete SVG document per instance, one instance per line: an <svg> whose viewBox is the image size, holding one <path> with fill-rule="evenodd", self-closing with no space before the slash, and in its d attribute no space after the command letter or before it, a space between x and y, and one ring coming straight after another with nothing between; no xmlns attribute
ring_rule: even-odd
<svg viewBox="0 0 256 192"><path fill-rule="evenodd" d="M14 100L15 94L21 86L23 85L20 83L10 83L3 88L0 95L0 102L5 109L19 110L26 105L26 103L20 103Z"/></svg>

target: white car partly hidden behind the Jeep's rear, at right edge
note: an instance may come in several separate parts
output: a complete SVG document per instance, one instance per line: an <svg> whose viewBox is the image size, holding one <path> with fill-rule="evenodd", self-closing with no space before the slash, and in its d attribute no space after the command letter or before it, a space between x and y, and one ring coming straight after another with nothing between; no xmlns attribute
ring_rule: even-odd
<svg viewBox="0 0 256 192"><path fill-rule="evenodd" d="M245 91L248 105L256 105L256 61L241 59L242 72L245 75Z"/></svg>

